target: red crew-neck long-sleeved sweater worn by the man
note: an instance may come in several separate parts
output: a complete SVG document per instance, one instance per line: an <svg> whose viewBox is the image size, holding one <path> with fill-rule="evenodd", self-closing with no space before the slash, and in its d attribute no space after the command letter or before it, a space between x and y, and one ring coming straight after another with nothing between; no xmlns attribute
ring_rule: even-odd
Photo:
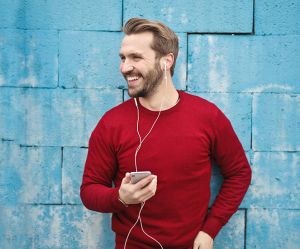
<svg viewBox="0 0 300 249"><path fill-rule="evenodd" d="M238 209L251 179L242 145L225 115L209 101L182 91L179 94L180 101L162 111L137 157L138 170L149 170L158 179L156 194L142 211L143 227L165 249L192 248L201 230L214 238ZM139 109L143 138L158 112L140 103ZM116 248L123 248L140 209L140 205L126 208L118 200L122 178L135 171L136 120L133 99L102 117L90 137L81 185L81 199L88 209L113 213ZM208 213L212 159L224 181ZM130 234L130 248L160 247L138 224Z"/></svg>

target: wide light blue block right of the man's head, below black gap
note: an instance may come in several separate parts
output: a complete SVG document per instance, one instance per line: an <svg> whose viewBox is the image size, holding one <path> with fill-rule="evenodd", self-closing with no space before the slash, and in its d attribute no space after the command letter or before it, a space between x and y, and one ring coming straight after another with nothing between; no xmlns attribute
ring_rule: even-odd
<svg viewBox="0 0 300 249"><path fill-rule="evenodd" d="M299 92L300 36L188 36L188 90Z"/></svg>

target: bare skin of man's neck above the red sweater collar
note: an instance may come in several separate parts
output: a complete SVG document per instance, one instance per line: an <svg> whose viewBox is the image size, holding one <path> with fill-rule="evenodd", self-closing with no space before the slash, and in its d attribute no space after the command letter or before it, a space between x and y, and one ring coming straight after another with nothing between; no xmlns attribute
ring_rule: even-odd
<svg viewBox="0 0 300 249"><path fill-rule="evenodd" d="M170 80L168 81L167 87L165 86L165 82L162 82L153 95L140 97L139 101L142 106L151 111L159 111L162 105L161 110L163 111L176 105L178 98L178 92L172 80Z"/></svg>

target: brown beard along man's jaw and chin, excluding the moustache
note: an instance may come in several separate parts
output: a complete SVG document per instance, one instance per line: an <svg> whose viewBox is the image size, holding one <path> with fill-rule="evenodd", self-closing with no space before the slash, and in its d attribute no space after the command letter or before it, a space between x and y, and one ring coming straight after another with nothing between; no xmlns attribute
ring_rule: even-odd
<svg viewBox="0 0 300 249"><path fill-rule="evenodd" d="M157 87L160 84L160 81L163 77L163 71L160 68L159 62L155 62L154 68L149 70L149 72L145 75L143 88L135 93L130 93L128 89L128 95L132 98L138 97L149 97L153 95Z"/></svg>

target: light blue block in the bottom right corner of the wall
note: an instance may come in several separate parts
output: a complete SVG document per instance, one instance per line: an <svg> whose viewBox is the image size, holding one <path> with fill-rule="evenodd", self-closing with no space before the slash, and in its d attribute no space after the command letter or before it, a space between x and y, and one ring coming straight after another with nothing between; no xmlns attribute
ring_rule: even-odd
<svg viewBox="0 0 300 249"><path fill-rule="evenodd" d="M257 249L297 249L299 228L299 210L249 209L246 246Z"/></svg>

